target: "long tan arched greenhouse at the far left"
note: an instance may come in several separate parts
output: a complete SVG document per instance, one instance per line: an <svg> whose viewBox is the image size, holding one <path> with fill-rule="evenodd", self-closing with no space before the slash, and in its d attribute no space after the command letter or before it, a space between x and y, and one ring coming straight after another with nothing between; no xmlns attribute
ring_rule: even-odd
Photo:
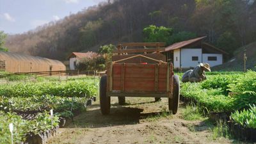
<svg viewBox="0 0 256 144"><path fill-rule="evenodd" d="M5 72L47 72L66 70L58 60L28 56L15 52L0 52L0 70Z"/></svg>

